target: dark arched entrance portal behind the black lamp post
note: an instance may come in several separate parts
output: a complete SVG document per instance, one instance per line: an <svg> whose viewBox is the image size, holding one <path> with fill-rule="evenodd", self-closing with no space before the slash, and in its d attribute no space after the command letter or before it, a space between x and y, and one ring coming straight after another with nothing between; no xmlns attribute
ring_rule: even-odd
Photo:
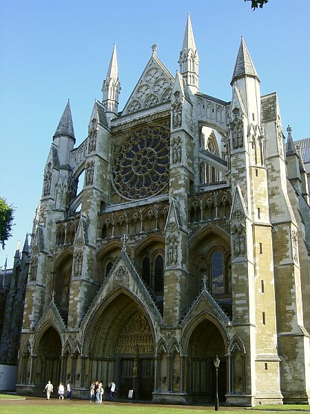
<svg viewBox="0 0 310 414"><path fill-rule="evenodd" d="M209 319L204 319L194 329L188 345L188 391L200 402L214 402L216 370L214 358L220 358L218 369L218 395L225 401L227 373L223 336Z"/></svg>

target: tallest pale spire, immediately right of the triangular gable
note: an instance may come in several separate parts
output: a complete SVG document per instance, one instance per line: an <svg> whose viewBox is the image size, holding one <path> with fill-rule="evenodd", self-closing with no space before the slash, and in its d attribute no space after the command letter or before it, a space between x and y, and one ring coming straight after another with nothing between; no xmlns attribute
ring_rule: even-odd
<svg viewBox="0 0 310 414"><path fill-rule="evenodd" d="M187 14L183 45L178 63L180 64L180 73L183 75L187 86L189 86L193 93L198 92L199 57L189 13Z"/></svg>

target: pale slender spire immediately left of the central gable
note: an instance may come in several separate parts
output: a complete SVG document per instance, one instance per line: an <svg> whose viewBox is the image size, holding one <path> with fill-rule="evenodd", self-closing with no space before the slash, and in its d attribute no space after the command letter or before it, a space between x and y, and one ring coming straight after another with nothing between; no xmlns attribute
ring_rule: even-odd
<svg viewBox="0 0 310 414"><path fill-rule="evenodd" d="M107 77L103 81L102 103L105 107L107 117L111 118L113 115L117 115L118 112L118 95L121 90L121 83L118 79L118 64L116 55L116 44L114 43L112 57L110 60L109 69L107 70ZM108 115L110 113L110 116Z"/></svg>

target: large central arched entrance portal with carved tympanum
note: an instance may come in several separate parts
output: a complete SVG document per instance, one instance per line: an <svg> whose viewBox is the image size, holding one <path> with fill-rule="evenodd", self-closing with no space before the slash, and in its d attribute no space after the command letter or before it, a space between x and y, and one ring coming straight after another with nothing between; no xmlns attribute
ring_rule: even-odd
<svg viewBox="0 0 310 414"><path fill-rule="evenodd" d="M91 380L116 383L117 397L151 400L154 391L154 334L145 313L121 293L99 311L90 335ZM92 345L93 344L93 345Z"/></svg>

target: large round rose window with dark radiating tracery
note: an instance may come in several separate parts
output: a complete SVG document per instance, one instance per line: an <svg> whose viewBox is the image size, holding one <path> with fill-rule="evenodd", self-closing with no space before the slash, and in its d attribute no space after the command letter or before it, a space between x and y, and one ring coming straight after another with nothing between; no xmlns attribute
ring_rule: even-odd
<svg viewBox="0 0 310 414"><path fill-rule="evenodd" d="M133 132L114 152L112 180L127 199L161 193L169 183L169 131L148 126Z"/></svg>

